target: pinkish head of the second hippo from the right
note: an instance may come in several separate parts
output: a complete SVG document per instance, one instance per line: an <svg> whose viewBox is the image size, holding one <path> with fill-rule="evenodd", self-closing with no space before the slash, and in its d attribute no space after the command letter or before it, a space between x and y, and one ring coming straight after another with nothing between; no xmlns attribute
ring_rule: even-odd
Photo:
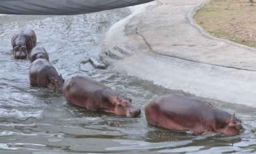
<svg viewBox="0 0 256 154"><path fill-rule="evenodd" d="M126 115L127 117L140 115L140 109L134 107L132 105L132 98L126 95L115 96L111 101L111 103L115 105L114 113L117 115Z"/></svg>

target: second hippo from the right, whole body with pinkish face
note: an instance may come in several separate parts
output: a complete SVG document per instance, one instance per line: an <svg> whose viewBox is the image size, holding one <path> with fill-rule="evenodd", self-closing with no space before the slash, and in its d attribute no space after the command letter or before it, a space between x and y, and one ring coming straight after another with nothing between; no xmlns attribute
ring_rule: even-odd
<svg viewBox="0 0 256 154"><path fill-rule="evenodd" d="M127 117L140 115L132 105L132 98L84 76L73 76L63 86L63 95L69 104L93 111L105 111Z"/></svg>

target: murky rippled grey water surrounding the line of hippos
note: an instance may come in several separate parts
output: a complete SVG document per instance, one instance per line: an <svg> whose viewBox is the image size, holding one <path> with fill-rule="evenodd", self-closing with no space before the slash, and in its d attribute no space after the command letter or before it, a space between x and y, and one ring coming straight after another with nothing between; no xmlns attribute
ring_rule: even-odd
<svg viewBox="0 0 256 154"><path fill-rule="evenodd" d="M240 136L196 135L148 125L146 102L178 93L151 82L126 76L113 66L96 69L105 30L125 17L119 11L75 16L15 16L0 20L0 153L254 153L255 109L199 98L236 112L246 132ZM31 86L29 60L15 60L11 37L22 27L35 31L37 44L46 48L50 62L66 80L84 75L119 93L127 93L142 109L137 118L92 112L68 105L61 94ZM219 89L221 90L221 89Z"/></svg>

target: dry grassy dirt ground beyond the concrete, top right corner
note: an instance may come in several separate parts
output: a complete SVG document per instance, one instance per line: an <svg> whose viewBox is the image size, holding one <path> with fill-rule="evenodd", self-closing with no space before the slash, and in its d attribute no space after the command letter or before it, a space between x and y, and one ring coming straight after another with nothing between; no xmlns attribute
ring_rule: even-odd
<svg viewBox="0 0 256 154"><path fill-rule="evenodd" d="M214 37L256 48L256 3L249 0L212 0L194 18Z"/></svg>

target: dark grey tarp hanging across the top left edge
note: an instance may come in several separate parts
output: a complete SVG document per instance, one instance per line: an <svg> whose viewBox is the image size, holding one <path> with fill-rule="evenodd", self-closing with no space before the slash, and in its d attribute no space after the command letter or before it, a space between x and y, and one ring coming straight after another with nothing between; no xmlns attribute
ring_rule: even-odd
<svg viewBox="0 0 256 154"><path fill-rule="evenodd" d="M152 0L0 0L0 14L71 15L98 12Z"/></svg>

